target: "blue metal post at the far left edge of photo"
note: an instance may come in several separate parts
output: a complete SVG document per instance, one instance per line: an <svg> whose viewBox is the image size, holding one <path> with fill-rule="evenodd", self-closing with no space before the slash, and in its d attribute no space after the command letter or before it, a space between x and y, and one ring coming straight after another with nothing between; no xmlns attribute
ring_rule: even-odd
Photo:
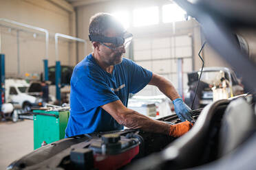
<svg viewBox="0 0 256 170"><path fill-rule="evenodd" d="M4 60L4 54L0 53L0 111L1 106L6 102L5 99L5 80L6 80L6 73L5 73L5 60Z"/></svg>

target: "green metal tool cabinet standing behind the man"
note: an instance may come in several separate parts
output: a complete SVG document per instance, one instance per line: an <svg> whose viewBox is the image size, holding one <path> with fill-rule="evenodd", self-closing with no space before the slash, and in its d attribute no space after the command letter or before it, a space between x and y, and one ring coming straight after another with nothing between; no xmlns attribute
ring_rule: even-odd
<svg viewBox="0 0 256 170"><path fill-rule="evenodd" d="M34 149L65 137L65 128L70 111L33 110Z"/></svg>

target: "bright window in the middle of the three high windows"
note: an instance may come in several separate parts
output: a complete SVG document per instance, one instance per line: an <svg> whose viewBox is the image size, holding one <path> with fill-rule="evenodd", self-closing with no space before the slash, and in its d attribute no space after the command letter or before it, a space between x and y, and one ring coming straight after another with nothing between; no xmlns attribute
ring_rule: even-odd
<svg viewBox="0 0 256 170"><path fill-rule="evenodd" d="M134 10L134 27L158 24L158 18L157 6L136 9Z"/></svg>

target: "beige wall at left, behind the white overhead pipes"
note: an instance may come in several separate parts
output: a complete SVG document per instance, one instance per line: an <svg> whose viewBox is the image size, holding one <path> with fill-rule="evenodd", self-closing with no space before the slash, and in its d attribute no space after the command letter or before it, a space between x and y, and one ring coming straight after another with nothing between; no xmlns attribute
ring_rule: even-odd
<svg viewBox="0 0 256 170"><path fill-rule="evenodd" d="M49 65L55 64L54 34L56 32L76 36L75 13L72 5L64 0L0 0L0 18L42 27L50 32ZM20 72L17 73L17 25L1 21L1 53L6 55L6 76L24 77L25 73L43 72L45 58L45 34L19 27ZM13 27L8 29L3 25ZM33 33L36 32L36 38ZM61 64L75 64L74 45L66 40L59 42Z"/></svg>

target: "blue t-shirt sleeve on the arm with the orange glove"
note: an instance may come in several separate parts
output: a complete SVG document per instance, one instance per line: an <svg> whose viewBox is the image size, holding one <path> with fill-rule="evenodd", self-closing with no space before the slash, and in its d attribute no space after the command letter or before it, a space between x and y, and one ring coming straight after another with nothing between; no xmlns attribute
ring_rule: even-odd
<svg viewBox="0 0 256 170"><path fill-rule="evenodd" d="M72 83L72 90L75 91L76 99L85 110L103 106L119 99L105 82L100 71L89 68L83 73L83 76L78 77L76 83Z"/></svg>

